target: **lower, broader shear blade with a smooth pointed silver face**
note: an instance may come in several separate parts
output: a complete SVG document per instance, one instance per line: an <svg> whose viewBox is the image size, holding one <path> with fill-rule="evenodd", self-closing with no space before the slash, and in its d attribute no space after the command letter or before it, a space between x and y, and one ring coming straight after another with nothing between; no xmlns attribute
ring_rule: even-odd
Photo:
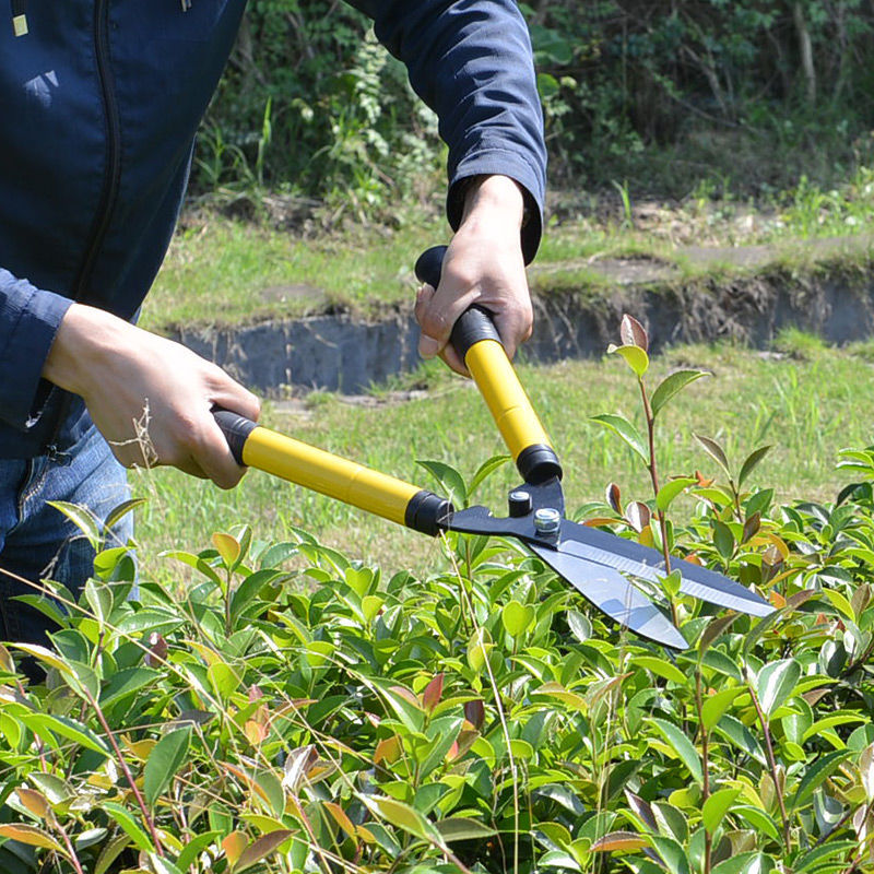
<svg viewBox="0 0 874 874"><path fill-rule="evenodd" d="M531 550L602 613L635 634L673 649L688 649L683 635L642 592L613 568L536 543Z"/></svg>

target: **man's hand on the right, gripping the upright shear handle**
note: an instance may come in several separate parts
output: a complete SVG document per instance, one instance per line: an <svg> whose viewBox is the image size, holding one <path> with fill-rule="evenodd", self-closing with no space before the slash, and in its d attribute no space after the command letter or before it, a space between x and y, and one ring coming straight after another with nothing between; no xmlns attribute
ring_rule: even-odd
<svg viewBox="0 0 874 874"><path fill-rule="evenodd" d="M472 304L495 314L507 355L531 336L533 314L520 239L524 201L507 176L483 176L470 187L464 215L444 259L438 288L425 285L416 298L422 328L418 353L440 355L460 374L464 363L449 345L459 316Z"/></svg>

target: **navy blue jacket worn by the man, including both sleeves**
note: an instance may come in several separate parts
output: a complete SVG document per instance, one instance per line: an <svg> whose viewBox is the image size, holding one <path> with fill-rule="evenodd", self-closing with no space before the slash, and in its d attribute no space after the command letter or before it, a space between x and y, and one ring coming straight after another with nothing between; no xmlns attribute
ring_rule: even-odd
<svg viewBox="0 0 874 874"><path fill-rule="evenodd" d="M510 176L531 201L531 260L545 153L513 0L351 1L439 117L450 223L463 179ZM142 304L244 7L29 0L28 35L0 21L0 458L63 449L88 426L81 399L40 379L43 365L71 302L125 319Z"/></svg>

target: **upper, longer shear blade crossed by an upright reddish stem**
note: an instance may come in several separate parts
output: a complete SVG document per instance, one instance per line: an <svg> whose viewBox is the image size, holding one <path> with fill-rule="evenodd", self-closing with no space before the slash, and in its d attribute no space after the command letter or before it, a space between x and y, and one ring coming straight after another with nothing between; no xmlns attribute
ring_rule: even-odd
<svg viewBox="0 0 874 874"><path fill-rule="evenodd" d="M562 522L558 548L652 582L658 582L665 574L664 557L658 550L567 519ZM761 597L714 570L675 556L671 557L671 566L680 570L683 594L752 616L768 616L773 612Z"/></svg>

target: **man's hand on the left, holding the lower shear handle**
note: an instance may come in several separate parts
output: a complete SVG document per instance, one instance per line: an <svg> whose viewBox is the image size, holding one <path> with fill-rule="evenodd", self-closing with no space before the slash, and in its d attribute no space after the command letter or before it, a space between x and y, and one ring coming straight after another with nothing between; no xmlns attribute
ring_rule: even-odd
<svg viewBox="0 0 874 874"><path fill-rule="evenodd" d="M233 488L245 472L211 410L224 406L257 420L258 399L179 343L73 304L43 376L82 395L97 429L128 468L172 464L222 488Z"/></svg>

